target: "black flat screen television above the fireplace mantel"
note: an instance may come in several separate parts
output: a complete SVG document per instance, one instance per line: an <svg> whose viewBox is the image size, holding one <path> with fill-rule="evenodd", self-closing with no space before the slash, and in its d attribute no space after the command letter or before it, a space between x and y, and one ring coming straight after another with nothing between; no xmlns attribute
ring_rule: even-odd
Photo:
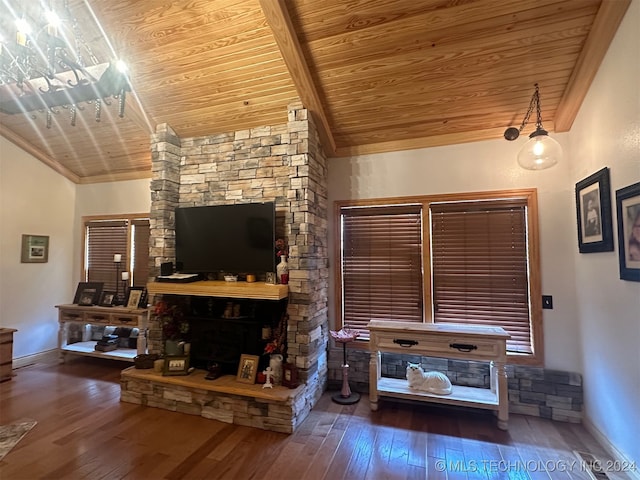
<svg viewBox="0 0 640 480"><path fill-rule="evenodd" d="M275 204L176 208L176 268L181 273L275 270Z"/></svg>

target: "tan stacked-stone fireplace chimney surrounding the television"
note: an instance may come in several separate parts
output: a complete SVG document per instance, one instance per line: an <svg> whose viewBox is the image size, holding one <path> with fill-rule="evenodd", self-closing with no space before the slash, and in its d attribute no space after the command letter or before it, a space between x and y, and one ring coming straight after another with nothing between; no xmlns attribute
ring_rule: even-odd
<svg viewBox="0 0 640 480"><path fill-rule="evenodd" d="M181 139L166 124L152 137L151 276L175 262L175 208L273 201L276 231L289 245L287 359L315 404L327 383L327 167L301 103L288 122ZM231 239L231 244L233 240ZM154 319L149 351L162 351Z"/></svg>

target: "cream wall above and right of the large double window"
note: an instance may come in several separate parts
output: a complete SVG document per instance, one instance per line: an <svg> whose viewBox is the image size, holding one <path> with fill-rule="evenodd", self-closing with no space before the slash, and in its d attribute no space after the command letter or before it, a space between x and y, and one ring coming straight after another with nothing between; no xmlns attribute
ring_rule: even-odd
<svg viewBox="0 0 640 480"><path fill-rule="evenodd" d="M554 137L566 143L566 135ZM554 309L543 310L545 363L549 368L581 372L580 343L575 334L579 324L569 165L565 161L549 170L523 170L516 163L516 155L524 141L492 140L333 159L329 162L329 201L537 188L542 292L554 297ZM565 145L565 155L568 149Z"/></svg>

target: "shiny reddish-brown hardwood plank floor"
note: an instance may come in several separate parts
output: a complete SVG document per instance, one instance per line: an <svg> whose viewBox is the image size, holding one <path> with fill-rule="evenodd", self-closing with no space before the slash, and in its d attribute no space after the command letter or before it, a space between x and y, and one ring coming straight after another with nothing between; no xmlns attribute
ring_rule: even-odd
<svg viewBox="0 0 640 480"><path fill-rule="evenodd" d="M120 403L125 364L85 357L16 370L0 424L38 424L0 462L18 479L590 479L574 450L610 457L581 425L325 393L293 435ZM628 479L609 472L612 479ZM605 478L605 477L599 477Z"/></svg>

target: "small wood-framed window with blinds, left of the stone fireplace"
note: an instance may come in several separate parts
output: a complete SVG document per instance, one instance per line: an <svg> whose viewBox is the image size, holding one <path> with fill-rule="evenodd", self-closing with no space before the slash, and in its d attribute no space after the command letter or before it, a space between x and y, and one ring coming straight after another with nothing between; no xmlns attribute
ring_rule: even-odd
<svg viewBox="0 0 640 480"><path fill-rule="evenodd" d="M84 223L84 279L103 282L116 290L114 255L121 255L120 271L129 272L130 285L146 285L149 278L149 218L144 215L91 217ZM118 287L120 287L120 284ZM119 289L119 288L118 288Z"/></svg>

